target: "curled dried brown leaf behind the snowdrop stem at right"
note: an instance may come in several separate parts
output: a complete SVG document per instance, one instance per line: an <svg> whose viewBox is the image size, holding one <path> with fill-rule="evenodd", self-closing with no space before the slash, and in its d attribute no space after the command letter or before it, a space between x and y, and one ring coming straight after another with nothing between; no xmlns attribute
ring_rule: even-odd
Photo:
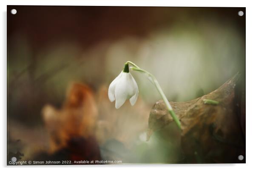
<svg viewBox="0 0 256 171"><path fill-rule="evenodd" d="M237 106L236 74L210 94L190 102L170 102L182 124L181 146L188 163L244 163L238 155L245 156L244 105ZM218 101L218 105L205 104L204 99ZM244 102L244 101L242 101ZM151 110L148 138L173 119L162 101Z"/></svg>

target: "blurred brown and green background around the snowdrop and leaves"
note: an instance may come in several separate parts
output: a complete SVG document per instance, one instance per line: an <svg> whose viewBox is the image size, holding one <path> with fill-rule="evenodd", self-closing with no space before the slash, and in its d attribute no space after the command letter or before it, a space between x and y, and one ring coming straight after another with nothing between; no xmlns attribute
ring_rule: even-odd
<svg viewBox="0 0 256 171"><path fill-rule="evenodd" d="M208 94L237 72L245 80L245 14L245 8L8 6L7 154L54 156L43 109L50 104L65 113L68 89L82 83L94 98L90 137L102 159L182 163L175 125L145 142L149 112L161 99L145 75L131 72L139 86L134 107L114 109L108 85L126 61L154 74L170 101Z"/></svg>

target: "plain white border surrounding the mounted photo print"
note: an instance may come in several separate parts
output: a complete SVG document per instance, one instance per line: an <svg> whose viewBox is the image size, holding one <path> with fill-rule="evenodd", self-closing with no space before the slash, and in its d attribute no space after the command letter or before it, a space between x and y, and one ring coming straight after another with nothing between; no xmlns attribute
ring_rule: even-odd
<svg viewBox="0 0 256 171"><path fill-rule="evenodd" d="M1 8L1 22L0 22L0 108L1 108L1 150L0 152L0 162L1 166L6 169L6 5L62 5L62 6L198 6L198 7L246 7L246 163L247 164L203 164L203 165L98 165L98 166L62 166L63 170L70 170L71 168L75 169L107 169L107 170L141 170L147 169L148 171L155 170L159 168L161 170L197 170L197 171L216 171L217 169L232 169L233 171L241 171L245 169L255 168L256 162L254 161L256 151L255 151L255 131L256 128L256 113L254 112L253 106L255 105L254 97L256 97L255 89L255 16L256 16L256 7L253 4L253 1L246 0L214 0L208 1L205 0L176 0L176 1L167 1L167 0L6 0L0 1ZM58 166L21 166L16 169L22 170L45 170L49 168L56 168ZM15 167L8 167L9 169L14 169Z"/></svg>

